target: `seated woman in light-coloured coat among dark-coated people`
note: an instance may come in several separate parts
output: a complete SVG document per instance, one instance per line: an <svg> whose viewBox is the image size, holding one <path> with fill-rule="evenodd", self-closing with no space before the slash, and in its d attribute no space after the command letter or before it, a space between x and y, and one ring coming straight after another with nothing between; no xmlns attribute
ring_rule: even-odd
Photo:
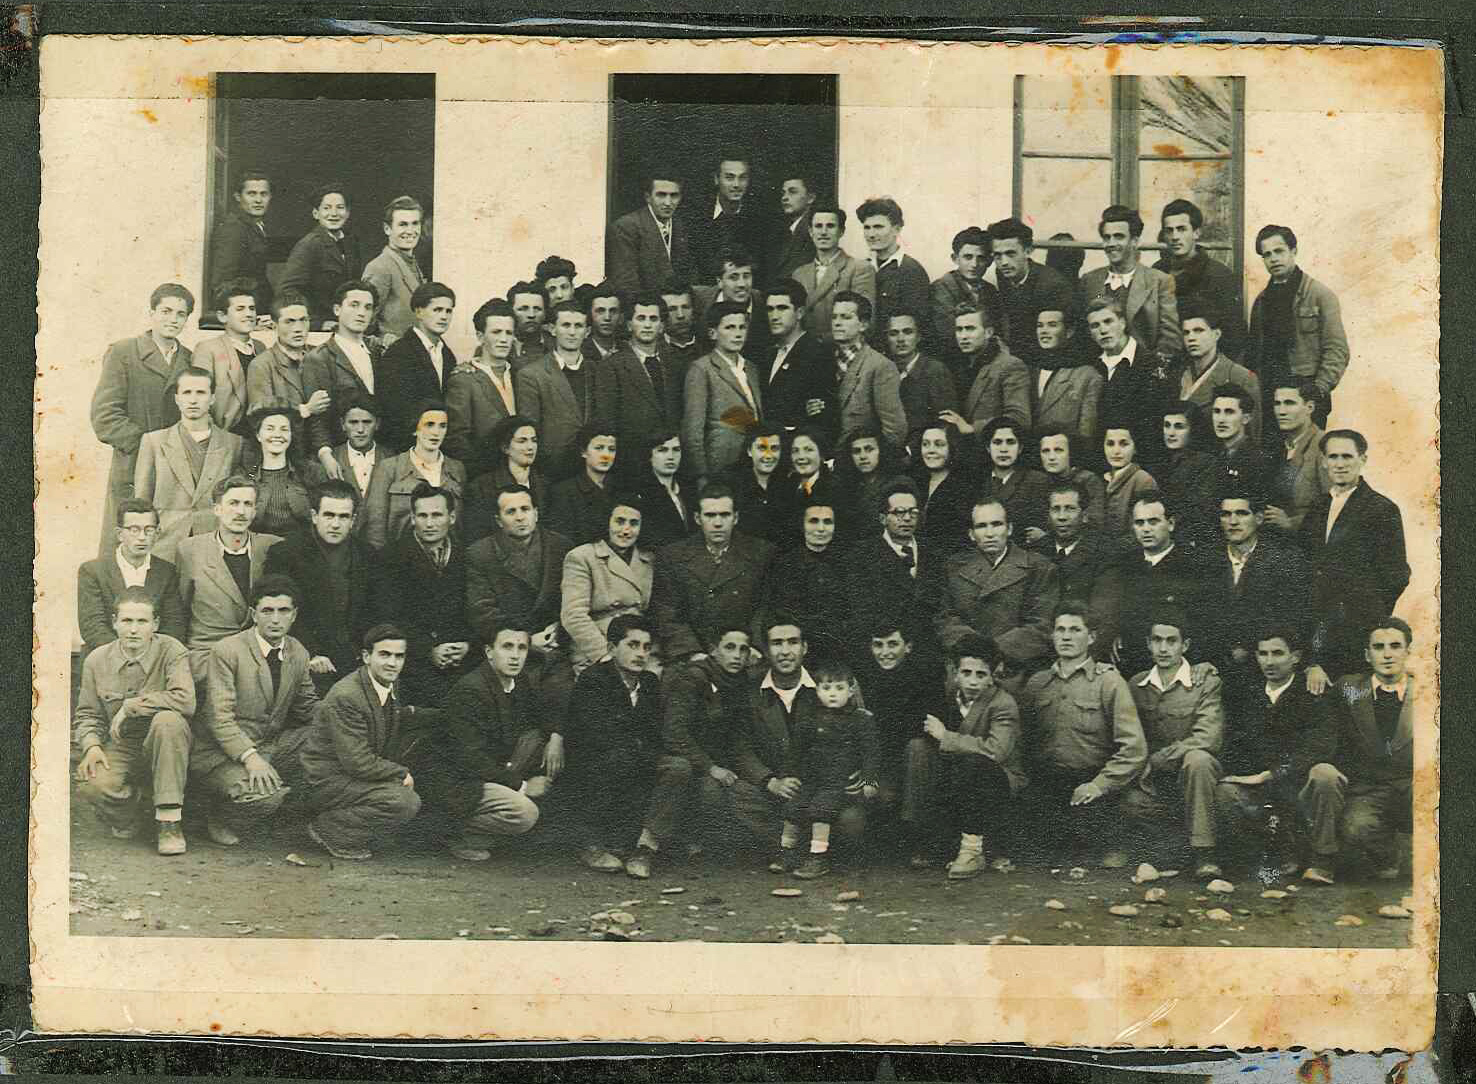
<svg viewBox="0 0 1476 1084"><path fill-rule="evenodd" d="M574 546L564 558L559 623L573 641L576 676L605 657L610 622L651 606L654 561L636 546L642 501L633 493L617 493L613 501L608 535Z"/></svg>

